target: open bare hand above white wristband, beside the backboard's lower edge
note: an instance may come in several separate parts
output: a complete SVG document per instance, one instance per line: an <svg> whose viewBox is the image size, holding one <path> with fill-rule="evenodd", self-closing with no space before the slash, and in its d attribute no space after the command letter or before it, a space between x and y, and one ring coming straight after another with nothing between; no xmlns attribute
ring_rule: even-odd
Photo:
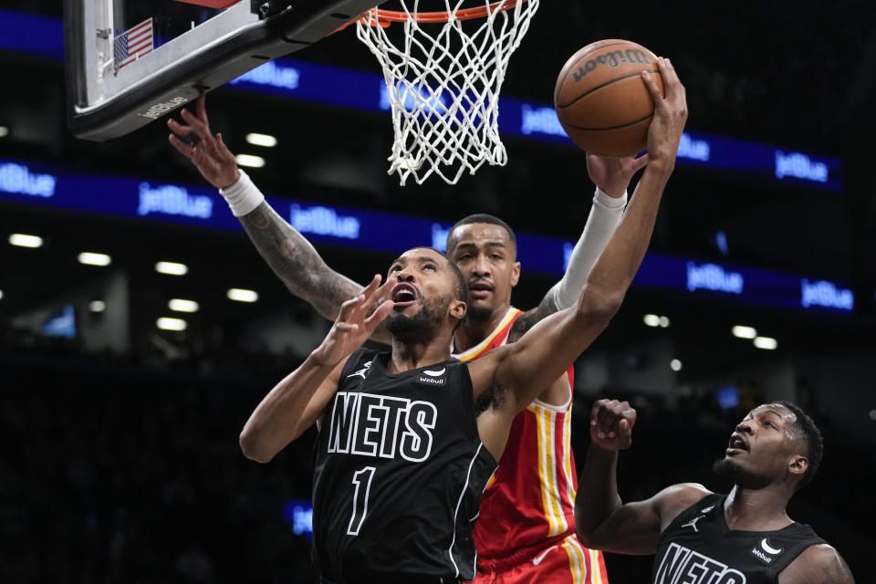
<svg viewBox="0 0 876 584"><path fill-rule="evenodd" d="M210 130L204 95L195 102L195 111L196 113L192 113L185 108L180 111L185 124L172 118L167 120L167 127L173 132L168 136L168 140L171 141L173 148L192 161L208 183L217 189L229 187L240 177L235 155L225 146L222 134L214 134ZM179 138L191 136L197 138L193 146Z"/></svg>

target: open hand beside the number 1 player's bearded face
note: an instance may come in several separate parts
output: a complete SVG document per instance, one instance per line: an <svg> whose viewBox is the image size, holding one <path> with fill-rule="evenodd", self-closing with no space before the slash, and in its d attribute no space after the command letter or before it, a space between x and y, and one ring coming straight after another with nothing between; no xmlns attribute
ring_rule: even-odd
<svg viewBox="0 0 876 584"><path fill-rule="evenodd" d="M375 275L356 297L344 302L335 324L313 356L322 363L334 365L359 349L392 311L393 303L386 297L390 283L391 280L381 286L381 276ZM375 305L377 308L372 312Z"/></svg>

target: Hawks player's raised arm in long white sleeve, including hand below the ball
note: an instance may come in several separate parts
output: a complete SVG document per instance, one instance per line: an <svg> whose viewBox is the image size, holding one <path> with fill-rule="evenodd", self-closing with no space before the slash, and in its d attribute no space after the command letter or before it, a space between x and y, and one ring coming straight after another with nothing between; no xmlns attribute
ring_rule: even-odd
<svg viewBox="0 0 876 584"><path fill-rule="evenodd" d="M515 320L508 342L519 339L542 318L575 305L581 288L587 282L590 269L620 224L633 174L647 163L647 154L640 158L587 154L587 173L596 184L596 193L593 195L584 232L572 249L562 279L547 291L537 308L528 310Z"/></svg>

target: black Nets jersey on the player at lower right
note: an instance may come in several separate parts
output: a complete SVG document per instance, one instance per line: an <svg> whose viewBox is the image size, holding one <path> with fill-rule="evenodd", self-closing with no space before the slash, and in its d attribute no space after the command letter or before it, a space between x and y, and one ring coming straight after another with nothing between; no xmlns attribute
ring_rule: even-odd
<svg viewBox="0 0 876 584"><path fill-rule="evenodd" d="M801 523L777 531L727 527L727 495L707 495L689 506L660 536L653 584L775 584L778 574L809 546L824 543Z"/></svg>

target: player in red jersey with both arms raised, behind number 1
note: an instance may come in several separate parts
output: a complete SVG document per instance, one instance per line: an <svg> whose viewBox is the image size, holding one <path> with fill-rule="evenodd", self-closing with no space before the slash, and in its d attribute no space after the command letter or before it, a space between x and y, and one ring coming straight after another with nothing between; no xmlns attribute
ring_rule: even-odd
<svg viewBox="0 0 876 584"><path fill-rule="evenodd" d="M277 276L297 297L334 319L340 305L361 286L329 268L312 245L266 203L220 136L211 132L203 98L197 113L183 110L183 125L169 121L181 136L195 132L194 148L171 137L203 177L221 189L232 212ZM572 305L589 269L620 223L626 188L648 162L588 155L590 179L597 184L588 222L568 262L567 273L537 308L511 307L520 276L516 237L501 220L485 214L466 217L448 235L447 255L468 280L469 308L454 338L454 356L471 360L519 339L541 318ZM389 339L379 329L374 339ZM599 551L582 547L575 536L573 507L577 474L569 446L572 372L543 391L514 422L509 446L487 486L474 531L481 573L475 582L525 584L605 584Z"/></svg>

